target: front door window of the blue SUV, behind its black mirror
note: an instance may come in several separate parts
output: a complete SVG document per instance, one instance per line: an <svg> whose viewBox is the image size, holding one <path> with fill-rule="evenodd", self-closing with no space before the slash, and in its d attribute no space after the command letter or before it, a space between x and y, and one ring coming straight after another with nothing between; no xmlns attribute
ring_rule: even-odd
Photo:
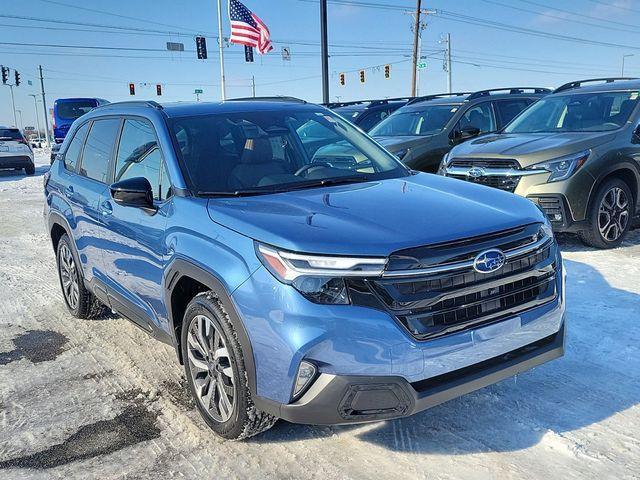
<svg viewBox="0 0 640 480"><path fill-rule="evenodd" d="M125 120L116 157L115 181L144 177L155 200L170 195L170 183L153 126L144 120Z"/></svg>

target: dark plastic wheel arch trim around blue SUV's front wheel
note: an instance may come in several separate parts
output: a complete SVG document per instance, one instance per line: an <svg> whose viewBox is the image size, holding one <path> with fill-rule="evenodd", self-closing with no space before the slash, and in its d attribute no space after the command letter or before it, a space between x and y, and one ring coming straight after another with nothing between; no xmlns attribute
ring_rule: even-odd
<svg viewBox="0 0 640 480"><path fill-rule="evenodd" d="M251 341L249 340L249 335L247 334L244 323L240 319L240 315L238 314L233 300L231 300L231 295L229 294L229 292L227 292L225 286L214 274L182 258L177 258L173 262L171 262L171 264L165 270L163 279L163 296L165 305L167 307L167 319L171 328L171 336L173 338L174 346L178 354L178 359L180 359L180 362L182 363L180 339L176 338L175 322L182 322L182 319L174 319L171 305L171 295L173 293L173 289L183 277L192 278L205 285L214 293L216 297L218 297L218 300L220 300L220 303L222 303L222 306L227 312L227 315L229 315L229 320L231 321L231 325L233 326L233 329L237 334L238 342L240 343L240 348L242 349L242 356L244 357L245 368L247 370L247 377L249 381L249 390L255 402L257 397L257 387L253 348L251 347Z"/></svg>

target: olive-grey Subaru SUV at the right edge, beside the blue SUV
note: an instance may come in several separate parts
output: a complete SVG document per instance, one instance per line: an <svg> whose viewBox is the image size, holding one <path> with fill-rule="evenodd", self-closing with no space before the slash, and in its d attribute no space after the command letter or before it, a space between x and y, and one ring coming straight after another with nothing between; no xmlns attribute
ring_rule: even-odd
<svg viewBox="0 0 640 480"><path fill-rule="evenodd" d="M556 231L618 246L640 214L640 80L567 83L498 133L454 148L440 173L536 202Z"/></svg>

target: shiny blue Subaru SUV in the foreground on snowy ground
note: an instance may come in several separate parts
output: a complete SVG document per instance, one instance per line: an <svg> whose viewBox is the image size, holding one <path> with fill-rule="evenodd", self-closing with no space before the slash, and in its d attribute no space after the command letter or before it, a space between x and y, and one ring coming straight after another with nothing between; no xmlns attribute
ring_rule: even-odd
<svg viewBox="0 0 640 480"><path fill-rule="evenodd" d="M321 106L102 106L45 194L69 311L173 345L225 438L408 416L564 352L544 214L413 172Z"/></svg>

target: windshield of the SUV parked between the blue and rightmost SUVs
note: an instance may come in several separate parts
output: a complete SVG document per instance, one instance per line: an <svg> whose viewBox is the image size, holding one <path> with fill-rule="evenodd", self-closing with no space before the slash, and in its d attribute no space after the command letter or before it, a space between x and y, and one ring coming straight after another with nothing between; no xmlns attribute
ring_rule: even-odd
<svg viewBox="0 0 640 480"><path fill-rule="evenodd" d="M457 111L457 105L432 105L421 109L401 108L380 122L369 134L372 137L434 135L447 126Z"/></svg>

